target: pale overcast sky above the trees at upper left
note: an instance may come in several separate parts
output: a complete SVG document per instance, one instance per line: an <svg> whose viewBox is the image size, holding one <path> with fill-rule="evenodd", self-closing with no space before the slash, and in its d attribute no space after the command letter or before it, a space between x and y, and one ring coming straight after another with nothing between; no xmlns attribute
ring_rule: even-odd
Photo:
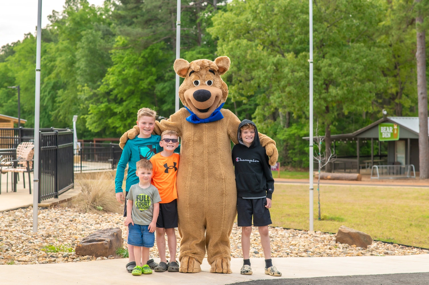
<svg viewBox="0 0 429 285"><path fill-rule="evenodd" d="M0 0L0 47L36 34L38 0ZM88 0L100 6L103 0ZM42 27L48 24L52 10L62 11L65 0L42 0Z"/></svg>

